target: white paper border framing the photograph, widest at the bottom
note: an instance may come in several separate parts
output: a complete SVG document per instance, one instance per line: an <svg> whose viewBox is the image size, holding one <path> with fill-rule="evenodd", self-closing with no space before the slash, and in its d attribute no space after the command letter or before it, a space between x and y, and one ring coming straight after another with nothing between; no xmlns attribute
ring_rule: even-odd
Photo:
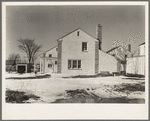
<svg viewBox="0 0 150 121"><path fill-rule="evenodd" d="M145 104L7 104L5 103L6 6L48 5L144 5L146 43ZM149 3L122 2L2 2L2 119L60 120L60 119L148 119L149 95Z"/></svg>

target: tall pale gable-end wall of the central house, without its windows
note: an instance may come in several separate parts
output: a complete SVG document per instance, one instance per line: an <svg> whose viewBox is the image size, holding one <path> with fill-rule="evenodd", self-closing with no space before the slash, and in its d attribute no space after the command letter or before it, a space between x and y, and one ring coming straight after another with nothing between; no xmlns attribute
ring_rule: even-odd
<svg viewBox="0 0 150 121"><path fill-rule="evenodd" d="M77 36L78 31L79 36ZM81 30L77 30L64 37L61 50L61 73L69 75L94 75L95 40ZM88 51L82 51L82 42L87 42ZM81 60L81 69L68 69L68 60Z"/></svg>

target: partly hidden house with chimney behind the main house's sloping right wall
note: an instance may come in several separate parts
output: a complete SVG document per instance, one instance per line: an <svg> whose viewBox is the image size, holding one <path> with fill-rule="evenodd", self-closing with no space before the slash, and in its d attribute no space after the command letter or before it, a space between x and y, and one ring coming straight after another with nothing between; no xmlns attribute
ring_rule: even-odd
<svg viewBox="0 0 150 121"><path fill-rule="evenodd" d="M118 60L118 72L119 73L126 73L126 58L132 56L131 52L131 45L129 44L128 46L117 46L114 47L106 53L114 56Z"/></svg>

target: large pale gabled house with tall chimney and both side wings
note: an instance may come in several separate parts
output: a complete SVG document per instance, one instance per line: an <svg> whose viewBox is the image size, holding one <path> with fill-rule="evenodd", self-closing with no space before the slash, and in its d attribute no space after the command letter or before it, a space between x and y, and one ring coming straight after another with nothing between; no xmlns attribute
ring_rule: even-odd
<svg viewBox="0 0 150 121"><path fill-rule="evenodd" d="M97 38L76 29L57 40L57 45L40 58L41 73L94 75L101 71L117 72L118 60L101 50L102 26Z"/></svg>

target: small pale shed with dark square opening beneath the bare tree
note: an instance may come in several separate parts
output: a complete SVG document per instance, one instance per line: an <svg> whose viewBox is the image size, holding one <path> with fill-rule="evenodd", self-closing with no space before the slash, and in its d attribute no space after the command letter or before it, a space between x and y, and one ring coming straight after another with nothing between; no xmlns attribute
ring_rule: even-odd
<svg viewBox="0 0 150 121"><path fill-rule="evenodd" d="M16 70L18 73L30 73L31 72L31 64L17 64Z"/></svg>

